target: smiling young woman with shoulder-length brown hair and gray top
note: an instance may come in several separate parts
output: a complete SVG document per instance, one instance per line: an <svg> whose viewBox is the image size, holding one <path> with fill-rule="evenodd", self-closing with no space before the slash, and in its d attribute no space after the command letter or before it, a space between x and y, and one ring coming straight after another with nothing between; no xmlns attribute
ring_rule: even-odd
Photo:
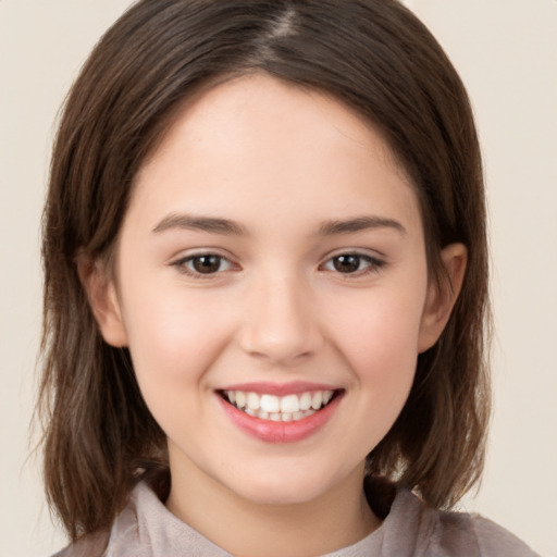
<svg viewBox="0 0 557 557"><path fill-rule="evenodd" d="M533 555L446 510L483 462L483 195L399 3L135 4L45 215L61 555Z"/></svg>

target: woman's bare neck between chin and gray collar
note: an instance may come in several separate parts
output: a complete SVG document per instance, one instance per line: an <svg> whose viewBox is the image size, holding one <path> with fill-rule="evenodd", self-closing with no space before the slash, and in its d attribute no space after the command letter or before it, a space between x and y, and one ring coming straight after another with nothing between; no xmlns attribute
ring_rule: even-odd
<svg viewBox="0 0 557 557"><path fill-rule="evenodd" d="M363 469L317 498L293 505L253 503L196 475L173 471L166 507L233 555L323 555L355 544L381 524L363 494Z"/></svg>

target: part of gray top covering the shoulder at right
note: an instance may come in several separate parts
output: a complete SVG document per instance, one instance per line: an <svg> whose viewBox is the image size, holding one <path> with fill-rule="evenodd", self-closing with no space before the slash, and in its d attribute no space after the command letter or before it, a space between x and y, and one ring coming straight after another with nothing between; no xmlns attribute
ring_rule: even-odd
<svg viewBox="0 0 557 557"><path fill-rule="evenodd" d="M401 490L386 518L393 537L405 539L411 555L435 557L536 557L527 544L479 515L428 507ZM400 555L400 553L398 553ZM393 554L395 555L395 554Z"/></svg>

